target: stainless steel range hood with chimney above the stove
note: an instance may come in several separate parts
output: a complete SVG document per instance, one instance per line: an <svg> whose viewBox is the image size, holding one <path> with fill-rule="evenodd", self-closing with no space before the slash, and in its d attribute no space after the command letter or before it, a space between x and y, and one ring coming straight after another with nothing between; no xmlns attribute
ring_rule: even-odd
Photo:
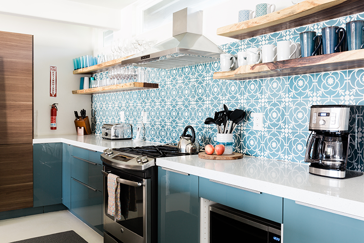
<svg viewBox="0 0 364 243"><path fill-rule="evenodd" d="M202 35L202 11L184 8L173 13L173 37L121 62L143 67L173 68L216 61L224 53Z"/></svg>

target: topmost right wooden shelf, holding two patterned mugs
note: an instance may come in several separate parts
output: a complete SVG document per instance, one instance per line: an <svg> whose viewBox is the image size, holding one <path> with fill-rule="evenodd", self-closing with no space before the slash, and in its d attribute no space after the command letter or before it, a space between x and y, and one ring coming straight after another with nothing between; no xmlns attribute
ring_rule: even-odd
<svg viewBox="0 0 364 243"><path fill-rule="evenodd" d="M217 29L217 34L247 39L364 11L364 0L305 0L282 10Z"/></svg>

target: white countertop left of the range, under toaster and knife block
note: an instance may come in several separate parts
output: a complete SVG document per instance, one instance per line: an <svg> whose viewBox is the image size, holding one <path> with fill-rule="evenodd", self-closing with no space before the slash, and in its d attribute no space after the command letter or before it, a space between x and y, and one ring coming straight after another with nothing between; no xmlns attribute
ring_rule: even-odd
<svg viewBox="0 0 364 243"><path fill-rule="evenodd" d="M40 135L34 137L33 144L35 143L66 143L99 152L103 152L104 149L107 148L140 147L159 144L148 141L135 142L134 140L108 140L103 139L101 135L95 134L83 136L78 136L76 134Z"/></svg>

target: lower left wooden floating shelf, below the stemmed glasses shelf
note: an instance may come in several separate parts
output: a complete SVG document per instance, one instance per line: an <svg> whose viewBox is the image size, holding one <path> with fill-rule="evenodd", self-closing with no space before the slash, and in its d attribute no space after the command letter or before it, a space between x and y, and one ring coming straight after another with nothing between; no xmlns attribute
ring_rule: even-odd
<svg viewBox="0 0 364 243"><path fill-rule="evenodd" d="M158 89L158 83L122 83L115 84L109 86L102 86L97 88L90 89L80 89L80 90L72 90L72 94L96 94L96 93L108 93L108 92L126 92L126 91L134 91L134 90L143 90L143 89Z"/></svg>

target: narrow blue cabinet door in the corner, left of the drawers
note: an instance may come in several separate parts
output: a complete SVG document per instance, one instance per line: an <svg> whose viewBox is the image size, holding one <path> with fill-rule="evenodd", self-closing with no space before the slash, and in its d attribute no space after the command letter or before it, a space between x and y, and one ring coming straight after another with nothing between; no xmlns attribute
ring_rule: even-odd
<svg viewBox="0 0 364 243"><path fill-rule="evenodd" d="M62 144L62 204L71 208L71 153L72 145Z"/></svg>

